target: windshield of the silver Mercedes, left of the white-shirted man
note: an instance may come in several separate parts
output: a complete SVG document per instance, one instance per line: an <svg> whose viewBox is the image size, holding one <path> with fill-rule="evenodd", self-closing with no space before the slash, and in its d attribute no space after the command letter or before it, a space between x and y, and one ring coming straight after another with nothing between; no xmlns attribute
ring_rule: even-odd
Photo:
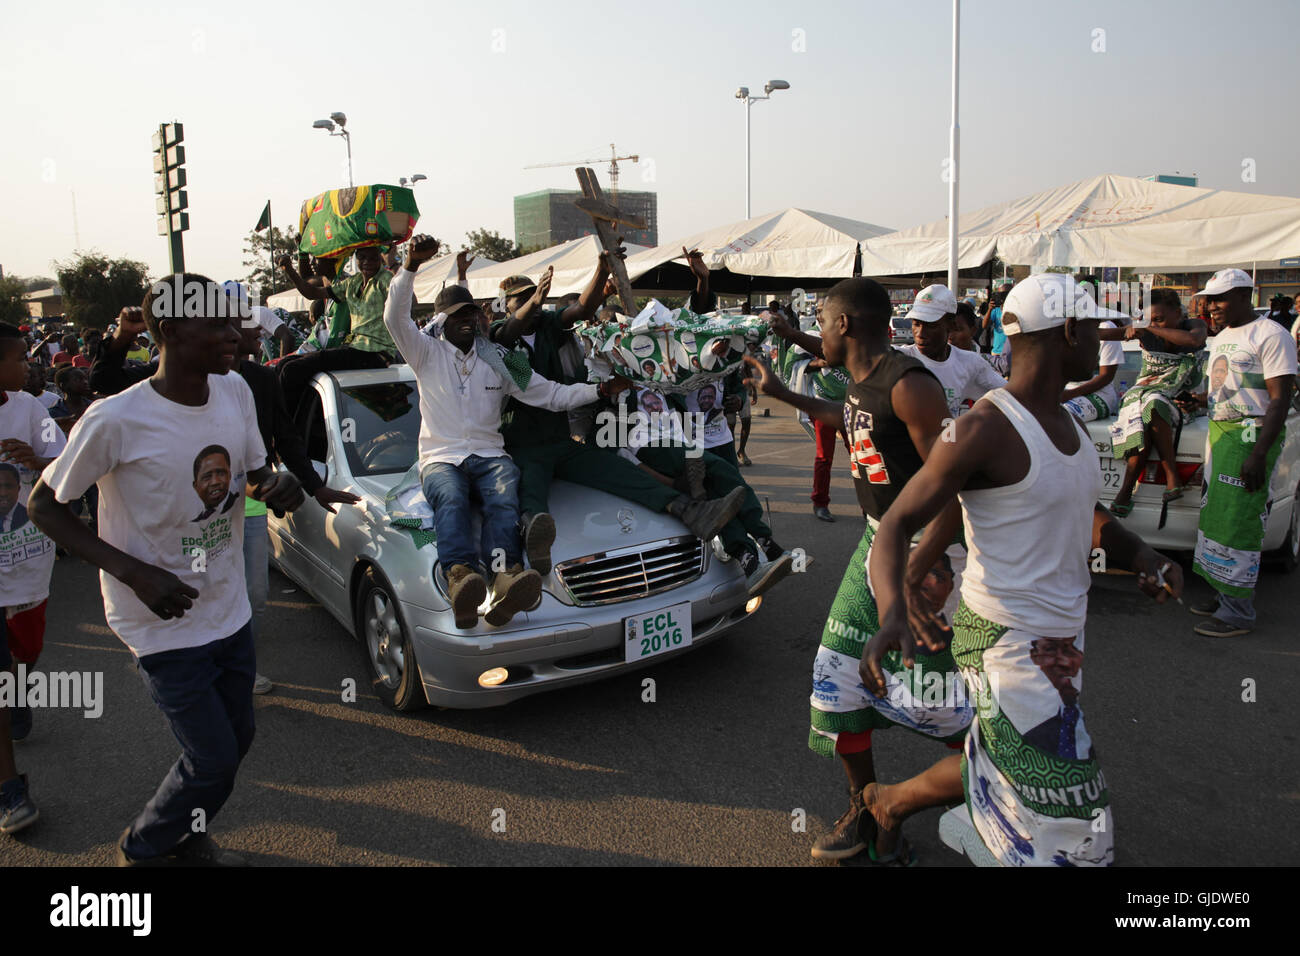
<svg viewBox="0 0 1300 956"><path fill-rule="evenodd" d="M420 399L411 382L339 389L339 431L354 477L399 475L415 464Z"/></svg>

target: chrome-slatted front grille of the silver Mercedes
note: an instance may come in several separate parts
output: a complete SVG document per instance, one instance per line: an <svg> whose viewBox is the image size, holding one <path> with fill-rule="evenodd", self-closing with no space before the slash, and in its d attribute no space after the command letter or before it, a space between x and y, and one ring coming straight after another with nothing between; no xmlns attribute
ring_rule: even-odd
<svg viewBox="0 0 1300 956"><path fill-rule="evenodd" d="M703 572L705 542L698 537L653 541L555 566L556 578L580 607L649 597Z"/></svg>

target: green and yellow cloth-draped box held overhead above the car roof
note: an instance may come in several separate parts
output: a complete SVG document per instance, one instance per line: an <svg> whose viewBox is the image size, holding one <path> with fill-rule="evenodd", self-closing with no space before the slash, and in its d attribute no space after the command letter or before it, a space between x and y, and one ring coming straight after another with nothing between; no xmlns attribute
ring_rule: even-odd
<svg viewBox="0 0 1300 956"><path fill-rule="evenodd" d="M420 208L402 186L332 189L303 203L298 250L321 259L346 256L363 246L406 242Z"/></svg>

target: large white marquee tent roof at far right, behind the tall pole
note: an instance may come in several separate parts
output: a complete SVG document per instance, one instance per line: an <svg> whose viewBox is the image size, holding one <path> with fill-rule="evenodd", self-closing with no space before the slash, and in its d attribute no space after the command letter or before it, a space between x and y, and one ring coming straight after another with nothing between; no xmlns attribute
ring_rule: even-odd
<svg viewBox="0 0 1300 956"><path fill-rule="evenodd" d="M958 265L1195 271L1300 256L1300 199L1097 176L967 212ZM948 220L862 243L863 276L944 272Z"/></svg>

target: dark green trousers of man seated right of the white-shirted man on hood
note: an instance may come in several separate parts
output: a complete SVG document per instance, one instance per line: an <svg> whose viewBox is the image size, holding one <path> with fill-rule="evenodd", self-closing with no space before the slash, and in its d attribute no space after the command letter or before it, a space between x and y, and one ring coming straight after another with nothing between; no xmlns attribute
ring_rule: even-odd
<svg viewBox="0 0 1300 956"><path fill-rule="evenodd" d="M550 510L551 481L555 479L608 492L653 511L667 511L668 503L679 497L677 492L614 451L582 442L564 440L547 445L507 446L506 451L519 467L519 510L523 512L536 515Z"/></svg>

